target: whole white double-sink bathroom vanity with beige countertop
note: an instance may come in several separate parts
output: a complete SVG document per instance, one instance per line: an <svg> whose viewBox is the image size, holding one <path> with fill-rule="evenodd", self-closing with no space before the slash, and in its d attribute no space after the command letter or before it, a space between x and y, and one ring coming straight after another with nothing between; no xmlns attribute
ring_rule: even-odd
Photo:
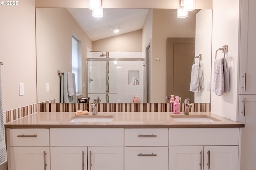
<svg viewBox="0 0 256 170"><path fill-rule="evenodd" d="M74 115L7 123L8 170L238 169L243 123L208 112L99 112L112 120L71 121Z"/></svg>

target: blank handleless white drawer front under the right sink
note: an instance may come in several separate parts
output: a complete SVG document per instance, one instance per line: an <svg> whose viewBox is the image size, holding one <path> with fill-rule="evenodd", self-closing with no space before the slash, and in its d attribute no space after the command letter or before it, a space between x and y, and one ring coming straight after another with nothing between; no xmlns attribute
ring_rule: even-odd
<svg viewBox="0 0 256 170"><path fill-rule="evenodd" d="M239 128L178 128L169 133L170 146L239 144Z"/></svg>

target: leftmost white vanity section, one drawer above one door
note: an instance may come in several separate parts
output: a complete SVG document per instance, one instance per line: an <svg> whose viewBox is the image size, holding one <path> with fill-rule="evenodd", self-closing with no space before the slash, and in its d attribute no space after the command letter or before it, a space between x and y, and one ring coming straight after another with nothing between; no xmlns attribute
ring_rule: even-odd
<svg viewBox="0 0 256 170"><path fill-rule="evenodd" d="M50 170L49 129L6 129L8 170Z"/></svg>

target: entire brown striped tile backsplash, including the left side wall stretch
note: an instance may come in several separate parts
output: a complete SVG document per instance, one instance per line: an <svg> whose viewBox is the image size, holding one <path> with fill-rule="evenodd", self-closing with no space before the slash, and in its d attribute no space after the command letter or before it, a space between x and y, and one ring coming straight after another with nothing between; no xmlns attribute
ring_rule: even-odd
<svg viewBox="0 0 256 170"><path fill-rule="evenodd" d="M76 103L76 104L63 104L63 103L51 103L44 102L39 104L32 104L29 106L20 107L17 109L12 109L9 111L4 111L4 123L20 119L27 115L31 115L36 112L75 112L77 110L88 110L92 111L91 105L89 103ZM183 111L184 104L181 105L181 111ZM169 103L100 103L98 104L98 111L101 112L169 112L173 111L173 104ZM192 112L210 112L210 103L194 103Z"/></svg>

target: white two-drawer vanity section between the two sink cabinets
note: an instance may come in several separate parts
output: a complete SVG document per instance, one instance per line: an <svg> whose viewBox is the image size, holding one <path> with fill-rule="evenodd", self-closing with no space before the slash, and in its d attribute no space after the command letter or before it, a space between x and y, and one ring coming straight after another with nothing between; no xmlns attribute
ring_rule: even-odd
<svg viewBox="0 0 256 170"><path fill-rule="evenodd" d="M168 170L168 129L125 129L125 170Z"/></svg>

